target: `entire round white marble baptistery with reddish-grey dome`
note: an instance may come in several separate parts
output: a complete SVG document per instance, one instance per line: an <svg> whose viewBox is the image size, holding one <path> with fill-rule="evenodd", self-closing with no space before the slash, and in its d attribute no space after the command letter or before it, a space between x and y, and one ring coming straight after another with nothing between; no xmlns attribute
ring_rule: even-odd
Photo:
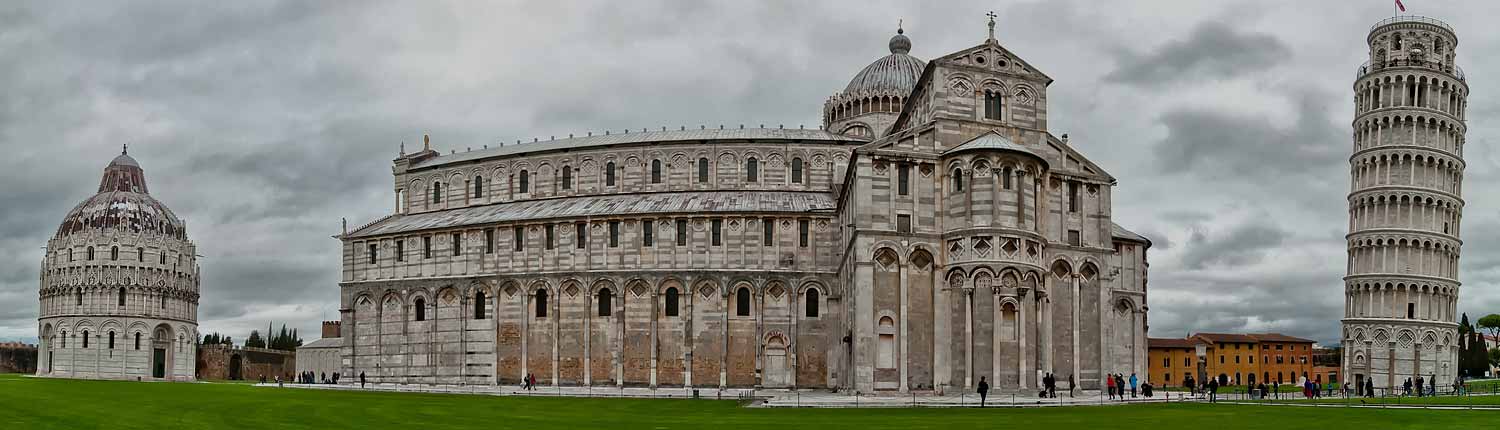
<svg viewBox="0 0 1500 430"><path fill-rule="evenodd" d="M198 264L186 228L120 153L42 261L38 375L192 381Z"/></svg>

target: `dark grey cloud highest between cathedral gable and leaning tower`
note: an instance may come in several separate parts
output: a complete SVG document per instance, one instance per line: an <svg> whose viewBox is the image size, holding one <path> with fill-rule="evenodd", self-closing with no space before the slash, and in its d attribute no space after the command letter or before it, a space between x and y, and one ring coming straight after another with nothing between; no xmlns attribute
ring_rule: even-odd
<svg viewBox="0 0 1500 430"><path fill-rule="evenodd" d="M1104 79L1160 88L1180 81L1238 78L1256 75L1290 52L1276 36L1206 21L1184 39L1161 43L1149 52L1118 51L1119 66Z"/></svg>

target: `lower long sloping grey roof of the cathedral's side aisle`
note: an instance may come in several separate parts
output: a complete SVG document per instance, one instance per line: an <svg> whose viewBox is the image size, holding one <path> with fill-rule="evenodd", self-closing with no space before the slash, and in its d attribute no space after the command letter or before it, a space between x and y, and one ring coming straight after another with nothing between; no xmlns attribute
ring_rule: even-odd
<svg viewBox="0 0 1500 430"><path fill-rule="evenodd" d="M399 214L344 235L372 237L518 220L618 214L807 213L834 208L826 192L624 193L504 202L446 211Z"/></svg>

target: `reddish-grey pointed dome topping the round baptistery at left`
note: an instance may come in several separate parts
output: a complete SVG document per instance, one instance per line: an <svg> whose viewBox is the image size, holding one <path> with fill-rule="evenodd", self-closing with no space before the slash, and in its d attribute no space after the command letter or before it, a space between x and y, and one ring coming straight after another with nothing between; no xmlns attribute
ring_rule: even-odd
<svg viewBox="0 0 1500 430"><path fill-rule="evenodd" d="M57 237L88 229L128 229L186 240L183 222L146 190L146 172L126 153L104 168L99 192L84 199L63 217Z"/></svg>

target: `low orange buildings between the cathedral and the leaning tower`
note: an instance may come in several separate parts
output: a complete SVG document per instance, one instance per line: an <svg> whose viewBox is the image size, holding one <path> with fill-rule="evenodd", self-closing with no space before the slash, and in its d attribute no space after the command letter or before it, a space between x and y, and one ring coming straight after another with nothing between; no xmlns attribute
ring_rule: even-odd
<svg viewBox="0 0 1500 430"><path fill-rule="evenodd" d="M1204 375L1221 385L1298 384L1302 378L1322 382L1328 378L1312 372L1312 340L1280 333L1198 333L1185 339L1154 337L1148 345L1148 378L1164 387L1182 385L1188 376L1203 382L1197 373L1200 345L1204 348Z"/></svg>

